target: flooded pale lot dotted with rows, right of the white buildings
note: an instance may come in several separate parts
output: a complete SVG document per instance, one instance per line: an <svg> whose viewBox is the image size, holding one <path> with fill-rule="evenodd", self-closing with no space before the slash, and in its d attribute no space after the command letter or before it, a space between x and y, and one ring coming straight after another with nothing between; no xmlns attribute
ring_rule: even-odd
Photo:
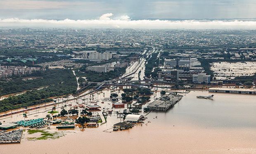
<svg viewBox="0 0 256 154"><path fill-rule="evenodd" d="M256 62L214 62L210 69L217 80L235 79L237 76L254 75Z"/></svg>

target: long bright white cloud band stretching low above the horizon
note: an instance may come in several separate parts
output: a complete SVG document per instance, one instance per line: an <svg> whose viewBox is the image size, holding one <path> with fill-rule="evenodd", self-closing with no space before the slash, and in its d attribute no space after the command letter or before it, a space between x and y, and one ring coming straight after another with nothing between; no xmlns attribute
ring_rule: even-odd
<svg viewBox="0 0 256 154"><path fill-rule="evenodd" d="M131 20L129 16L111 18L103 14L95 20L45 20L45 19L0 19L1 27L73 27L73 28L139 28L139 29L256 29L256 21L206 21L206 20Z"/></svg>

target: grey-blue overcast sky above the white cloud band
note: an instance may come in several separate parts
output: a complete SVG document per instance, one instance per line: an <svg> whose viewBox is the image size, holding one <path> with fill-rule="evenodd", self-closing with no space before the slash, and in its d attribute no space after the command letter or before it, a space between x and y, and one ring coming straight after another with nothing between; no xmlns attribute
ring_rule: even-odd
<svg viewBox="0 0 256 154"><path fill-rule="evenodd" d="M0 0L0 18L256 18L256 0Z"/></svg>

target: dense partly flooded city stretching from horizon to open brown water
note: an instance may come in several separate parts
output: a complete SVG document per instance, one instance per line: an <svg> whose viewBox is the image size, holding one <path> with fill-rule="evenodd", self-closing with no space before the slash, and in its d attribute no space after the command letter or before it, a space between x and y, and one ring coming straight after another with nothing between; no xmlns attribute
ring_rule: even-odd
<svg viewBox="0 0 256 154"><path fill-rule="evenodd" d="M254 30L0 31L0 143L148 125L149 113L172 110L194 90L209 90L204 99L256 94Z"/></svg>

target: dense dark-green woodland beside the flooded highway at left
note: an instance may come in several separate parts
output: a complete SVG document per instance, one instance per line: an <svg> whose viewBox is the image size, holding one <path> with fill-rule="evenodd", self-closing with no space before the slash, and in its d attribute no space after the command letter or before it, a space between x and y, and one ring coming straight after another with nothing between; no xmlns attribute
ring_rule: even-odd
<svg viewBox="0 0 256 154"><path fill-rule="evenodd" d="M50 102L52 99L48 99L49 97L72 94L76 91L76 77L70 69L38 71L34 72L33 76L41 76L43 78L34 79L32 80L33 82L29 81L29 83L22 80L0 83L0 94L1 92L2 94L20 92L24 90L24 87L22 88L21 86L25 86L25 89L35 88L33 85L39 87L47 86L40 90L27 91L24 94L0 101L0 112Z"/></svg>

